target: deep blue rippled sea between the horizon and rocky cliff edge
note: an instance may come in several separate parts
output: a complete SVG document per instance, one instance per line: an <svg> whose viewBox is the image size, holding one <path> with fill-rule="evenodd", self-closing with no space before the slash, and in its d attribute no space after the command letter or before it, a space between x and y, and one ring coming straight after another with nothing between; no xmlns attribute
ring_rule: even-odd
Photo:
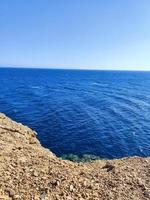
<svg viewBox="0 0 150 200"><path fill-rule="evenodd" d="M0 68L0 112L58 156L150 156L150 72Z"/></svg>

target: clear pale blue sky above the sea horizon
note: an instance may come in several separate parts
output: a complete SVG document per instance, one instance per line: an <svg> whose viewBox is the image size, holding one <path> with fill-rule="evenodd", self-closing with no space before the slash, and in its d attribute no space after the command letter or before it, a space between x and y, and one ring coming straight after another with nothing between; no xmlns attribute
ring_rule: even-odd
<svg viewBox="0 0 150 200"><path fill-rule="evenodd" d="M0 66L150 70L150 0L0 0Z"/></svg>

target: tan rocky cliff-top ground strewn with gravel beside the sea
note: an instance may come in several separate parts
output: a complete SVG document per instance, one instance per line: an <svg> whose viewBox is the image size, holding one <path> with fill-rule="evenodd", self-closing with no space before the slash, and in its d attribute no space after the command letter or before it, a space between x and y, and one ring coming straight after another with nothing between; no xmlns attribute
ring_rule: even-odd
<svg viewBox="0 0 150 200"><path fill-rule="evenodd" d="M0 114L0 200L150 199L150 158L73 163Z"/></svg>

